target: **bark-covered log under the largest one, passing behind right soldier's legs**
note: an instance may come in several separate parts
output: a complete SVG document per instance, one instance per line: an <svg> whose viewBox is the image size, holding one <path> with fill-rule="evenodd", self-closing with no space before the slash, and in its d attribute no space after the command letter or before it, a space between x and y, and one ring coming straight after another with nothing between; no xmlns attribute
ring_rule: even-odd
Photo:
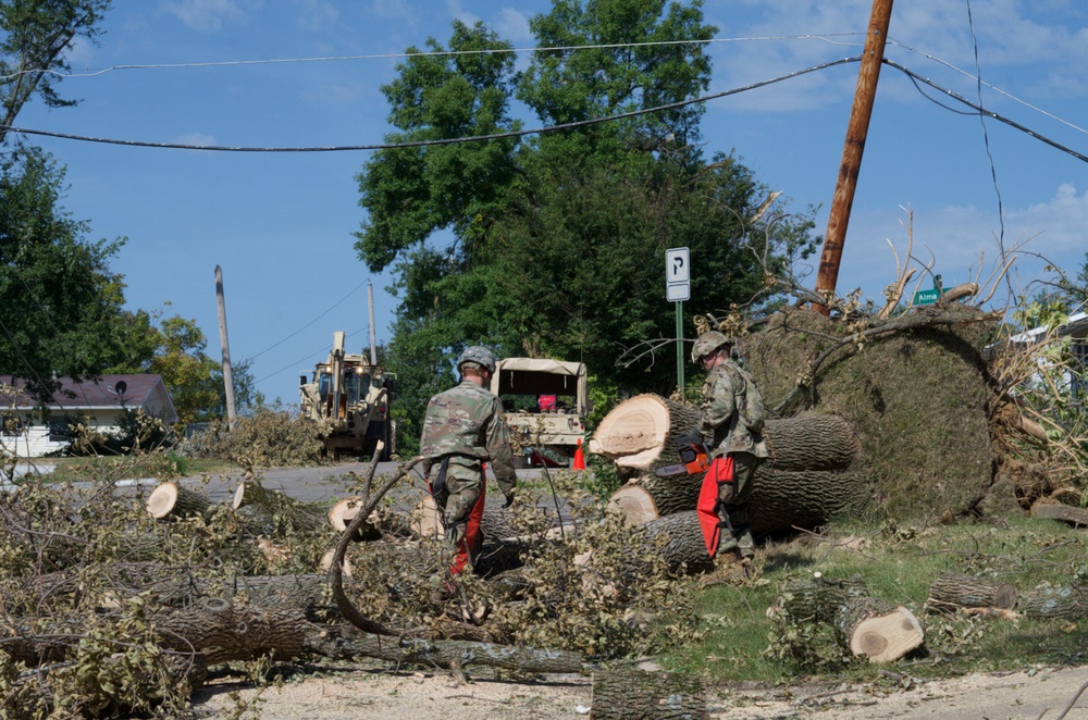
<svg viewBox="0 0 1088 720"><path fill-rule="evenodd" d="M666 514L663 509L691 511L702 482L701 474L668 479L641 475L616 491L609 506L632 524L653 520L655 513ZM814 530L836 518L857 516L868 506L871 486L871 479L860 471L788 471L764 462L755 472L749 497L752 532L766 535L793 527Z"/></svg>

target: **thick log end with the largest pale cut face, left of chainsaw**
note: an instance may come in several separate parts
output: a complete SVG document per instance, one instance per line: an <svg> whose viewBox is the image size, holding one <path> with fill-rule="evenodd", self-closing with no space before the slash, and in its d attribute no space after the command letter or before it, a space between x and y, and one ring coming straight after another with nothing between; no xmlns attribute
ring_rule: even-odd
<svg viewBox="0 0 1088 720"><path fill-rule="evenodd" d="M698 426L697 408L659 395L636 395L604 417L590 440L590 452L620 468L653 470L680 461L677 438Z"/></svg>

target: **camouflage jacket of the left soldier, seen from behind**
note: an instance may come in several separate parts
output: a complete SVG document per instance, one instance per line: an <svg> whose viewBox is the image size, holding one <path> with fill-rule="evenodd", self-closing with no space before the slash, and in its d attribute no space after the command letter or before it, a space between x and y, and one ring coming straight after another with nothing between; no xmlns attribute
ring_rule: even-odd
<svg viewBox="0 0 1088 720"><path fill-rule="evenodd" d="M463 464L457 462L458 459L473 465L490 459L504 495L509 495L517 484L510 429L503 418L503 404L472 381L462 380L459 385L431 398L419 451L428 475L431 465L448 455L452 464Z"/></svg>

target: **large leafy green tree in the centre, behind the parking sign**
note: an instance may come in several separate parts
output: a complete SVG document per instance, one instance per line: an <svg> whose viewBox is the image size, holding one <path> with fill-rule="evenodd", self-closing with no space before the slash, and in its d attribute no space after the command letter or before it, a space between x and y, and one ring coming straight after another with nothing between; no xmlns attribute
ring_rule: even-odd
<svg viewBox="0 0 1088 720"><path fill-rule="evenodd" d="M616 364L625 347L675 333L667 248L698 258L693 309L720 311L814 247L811 211L754 220L767 188L732 156L703 159L697 103L642 112L708 86L701 41L715 28L698 0L554 0L530 27L539 47L594 47L536 51L521 73L507 52L410 57L383 87L398 128L387 139L516 129L516 99L545 124L636 114L530 140L401 147L363 166L356 248L371 270L395 271L391 365L406 432L434 371L469 344L584 359L601 383L667 392L671 362ZM454 25L450 50L508 48L481 24Z"/></svg>

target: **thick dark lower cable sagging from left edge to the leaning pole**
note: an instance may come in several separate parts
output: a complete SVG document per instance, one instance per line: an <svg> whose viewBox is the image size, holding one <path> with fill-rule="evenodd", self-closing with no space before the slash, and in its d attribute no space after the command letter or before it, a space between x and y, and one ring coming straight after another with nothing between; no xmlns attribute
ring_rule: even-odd
<svg viewBox="0 0 1088 720"><path fill-rule="evenodd" d="M39 131L28 127L13 127L11 125L0 125L0 132L21 133L24 135L40 135L45 137L55 137L60 139L78 140L83 142L123 145L127 147L160 148L170 150L209 150L215 152L351 152L360 150L394 150L398 148L425 148L425 147L433 147L441 145L455 145L458 142L483 142L490 140L500 140L505 138L524 137L527 135L541 135L544 133L555 133L558 131L569 131L578 127L586 127L589 125L597 125L599 123L610 123L617 120L627 120L629 117L638 117L640 115L646 115L655 112L677 110L679 108L684 108L701 102L707 102L709 100L717 100L719 98L725 98L730 95L738 95L740 92L755 90L762 87L766 87L768 85L774 85L775 83L781 83L783 80L792 79L794 77L807 75L808 73L826 70L828 67L834 67L836 65L843 65L846 63L858 62L860 60L861 58L856 55L853 58L842 58L841 60L832 60L830 62L821 63L819 65L813 65L804 70L794 71L792 73L787 73L786 75L779 75L778 77L761 80L758 83L753 83L751 85L745 85L743 87L738 87L730 90L724 90L721 92L715 92L713 95L705 95L698 98L693 98L691 100L681 100L679 102L670 102L663 105L655 105L653 108L632 110L630 112L619 113L616 115L591 117L588 120L580 120L572 123L561 123L559 125L546 125L544 127L535 127L532 129L508 131L505 133L492 133L489 135L471 135L468 137L441 138L436 140L411 140L408 142L376 142L372 145L333 145L323 147L228 147L219 145L181 145L175 142L145 142L141 140L121 140L115 138L90 137L87 135L73 135L69 133L53 133L50 131Z"/></svg>

